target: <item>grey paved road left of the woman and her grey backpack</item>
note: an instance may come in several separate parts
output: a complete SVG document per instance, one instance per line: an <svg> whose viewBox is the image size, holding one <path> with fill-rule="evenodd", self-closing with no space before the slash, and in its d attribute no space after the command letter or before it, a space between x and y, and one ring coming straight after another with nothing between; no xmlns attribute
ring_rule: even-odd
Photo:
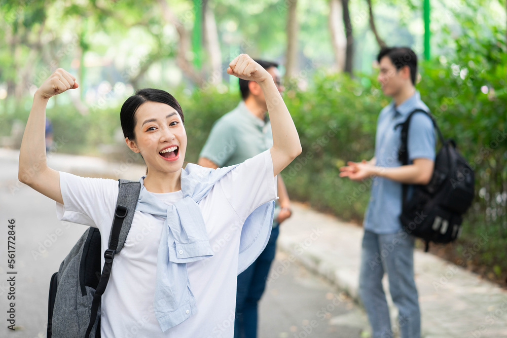
<svg viewBox="0 0 507 338"><path fill-rule="evenodd" d="M86 227L56 219L55 202L20 184L17 160L0 149L0 337L46 337L51 275ZM3 156L2 156L3 155ZM7 264L8 219L15 219L15 264ZM16 272L9 275L7 272ZM15 278L14 294L7 279ZM14 299L8 299L14 296ZM16 331L7 328L14 303Z"/></svg>

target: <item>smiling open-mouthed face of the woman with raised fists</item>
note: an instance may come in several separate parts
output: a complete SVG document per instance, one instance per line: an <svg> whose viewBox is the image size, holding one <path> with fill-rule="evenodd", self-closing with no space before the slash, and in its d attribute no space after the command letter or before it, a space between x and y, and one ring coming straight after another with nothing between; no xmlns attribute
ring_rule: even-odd
<svg viewBox="0 0 507 338"><path fill-rule="evenodd" d="M176 109L147 101L135 112L135 141L129 147L140 153L149 173L176 172L183 167L187 133Z"/></svg>

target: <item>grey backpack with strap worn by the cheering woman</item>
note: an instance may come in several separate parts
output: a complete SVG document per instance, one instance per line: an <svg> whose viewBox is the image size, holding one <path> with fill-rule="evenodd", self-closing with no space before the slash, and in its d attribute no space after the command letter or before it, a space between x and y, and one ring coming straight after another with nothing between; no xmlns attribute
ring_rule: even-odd
<svg viewBox="0 0 507 338"><path fill-rule="evenodd" d="M100 337L100 301L111 275L115 254L122 249L130 230L141 183L120 179L119 187L102 273L100 232L90 227L51 277L48 338Z"/></svg>

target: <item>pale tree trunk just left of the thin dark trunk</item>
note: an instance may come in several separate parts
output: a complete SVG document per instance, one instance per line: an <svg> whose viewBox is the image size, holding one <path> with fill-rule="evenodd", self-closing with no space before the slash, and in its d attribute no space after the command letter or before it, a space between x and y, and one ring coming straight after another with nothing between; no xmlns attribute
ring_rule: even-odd
<svg viewBox="0 0 507 338"><path fill-rule="evenodd" d="M339 71L345 69L345 49L347 45L345 31L343 29L343 3L342 0L330 0L329 3L329 29L331 41L335 52L336 68Z"/></svg>

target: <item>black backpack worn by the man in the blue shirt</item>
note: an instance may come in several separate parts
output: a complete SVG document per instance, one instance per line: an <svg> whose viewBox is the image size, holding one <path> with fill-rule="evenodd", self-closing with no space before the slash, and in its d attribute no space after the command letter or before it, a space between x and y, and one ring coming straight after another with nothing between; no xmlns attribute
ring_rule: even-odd
<svg viewBox="0 0 507 338"><path fill-rule="evenodd" d="M408 184L403 184L403 206L400 220L403 228L411 235L426 242L449 243L461 234L462 215L474 199L474 171L458 153L452 139L444 140L437 122L425 110L412 111L401 126L402 143L399 160L403 165L409 162L407 149L410 119L414 114L426 114L437 129L442 147L434 161L431 180L426 185L411 185L412 194L407 199Z"/></svg>

